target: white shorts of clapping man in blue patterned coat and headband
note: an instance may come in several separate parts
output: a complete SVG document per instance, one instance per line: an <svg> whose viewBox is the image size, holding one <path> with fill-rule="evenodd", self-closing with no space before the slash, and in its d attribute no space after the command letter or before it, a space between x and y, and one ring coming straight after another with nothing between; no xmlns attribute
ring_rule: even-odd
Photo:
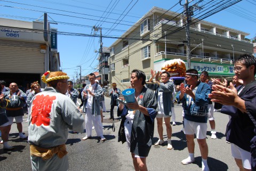
<svg viewBox="0 0 256 171"><path fill-rule="evenodd" d="M207 123L196 123L194 121L190 121L184 119L184 133L187 135L196 134L197 139L205 139L207 132Z"/></svg>

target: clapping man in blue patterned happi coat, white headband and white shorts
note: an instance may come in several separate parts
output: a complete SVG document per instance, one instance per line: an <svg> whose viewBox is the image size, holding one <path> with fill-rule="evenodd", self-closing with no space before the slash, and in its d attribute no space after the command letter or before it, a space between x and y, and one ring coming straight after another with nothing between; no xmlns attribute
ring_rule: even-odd
<svg viewBox="0 0 256 171"><path fill-rule="evenodd" d="M184 131L188 145L188 158L182 160L183 165L195 161L195 142L194 134L201 151L202 170L209 171L207 165L208 146L206 143L207 132L207 112L208 112L208 95L211 88L206 83L198 82L198 72L196 69L186 71L186 83L180 85L179 100L182 102L184 116Z"/></svg>

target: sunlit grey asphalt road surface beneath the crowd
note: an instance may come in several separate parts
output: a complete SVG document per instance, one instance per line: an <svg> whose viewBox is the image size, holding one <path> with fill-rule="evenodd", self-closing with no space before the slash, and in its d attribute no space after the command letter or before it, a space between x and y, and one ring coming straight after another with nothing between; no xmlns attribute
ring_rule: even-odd
<svg viewBox="0 0 256 171"><path fill-rule="evenodd" d="M107 110L110 110L110 100L105 100ZM185 135L180 132L182 128L182 107L175 105L177 125L172 126L172 150L167 150L167 136L164 131L165 144L163 146L152 146L147 158L149 170L202 170L201 157L197 142L195 147L196 161L194 164L182 165L181 160L188 157ZM67 151L69 158L69 170L133 170L131 154L126 144L117 142L117 132L120 121L115 123L116 131L111 129L111 122L106 123L109 118L109 112L103 113L105 116L105 127L103 133L107 139L101 142L97 137L82 141L83 134L69 134L67 141ZM115 111L116 116L116 111ZM210 134L210 125L208 124L207 143L209 145L208 164L210 170L238 170L234 159L231 157L230 144L226 143L225 130L228 123L228 116L219 112L214 112L217 129L217 139L212 140ZM27 116L24 117L24 120ZM164 127L165 128L165 127ZM27 123L23 123L23 132L28 134ZM93 131L95 136L95 131ZM157 141L158 133L155 124L154 141ZM29 145L26 140L20 140L16 125L13 124L10 133L10 145L15 147L12 151L4 151L0 146L0 170L31 170ZM49 169L51 170L51 169Z"/></svg>

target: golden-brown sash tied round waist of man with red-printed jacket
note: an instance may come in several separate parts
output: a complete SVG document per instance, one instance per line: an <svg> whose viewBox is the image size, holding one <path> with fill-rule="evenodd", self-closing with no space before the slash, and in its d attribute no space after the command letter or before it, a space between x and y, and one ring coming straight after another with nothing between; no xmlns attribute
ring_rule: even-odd
<svg viewBox="0 0 256 171"><path fill-rule="evenodd" d="M31 145L30 144L30 155L36 157L42 157L43 160L47 160L52 158L54 154L57 153L59 158L65 156L68 152L66 150L66 145L62 144L59 146L54 146L50 149L41 148L39 146Z"/></svg>

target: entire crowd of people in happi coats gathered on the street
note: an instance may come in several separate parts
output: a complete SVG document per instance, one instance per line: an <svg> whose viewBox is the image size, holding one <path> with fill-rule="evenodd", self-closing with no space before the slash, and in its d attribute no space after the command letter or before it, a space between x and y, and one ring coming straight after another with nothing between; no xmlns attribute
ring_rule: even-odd
<svg viewBox="0 0 256 171"><path fill-rule="evenodd" d="M170 73L165 70L151 70L151 77L146 80L143 71L134 69L129 86L135 89L133 103L126 103L117 84L111 84L109 119L114 119L114 107L117 106L117 116L122 118L118 141L127 143L134 169L147 170L146 158L151 145L165 143L163 124L167 133L167 149L175 148L172 146L171 137L172 126L175 126L176 100L182 104L182 131L186 135L188 147L188 157L181 161L183 165L195 161L196 135L202 157L202 170L210 170L207 164L207 121L209 120L211 127L211 139L217 139L213 114L220 110L221 113L229 115L226 139L230 143L231 156L239 170L256 170L255 67L254 56L243 54L234 60L235 75L230 84L226 79L223 82L210 79L207 71L202 71L199 75L196 69L188 69L185 82L180 85L175 85L170 80ZM8 136L15 119L20 139L28 138L33 170L47 170L49 167L53 170L68 170L65 145L68 129L73 133L84 133L85 128L86 133L82 140L91 139L94 129L99 139L106 141L102 126L102 112L106 111L105 88L99 84L93 73L89 75L90 84L83 84L80 92L68 79L65 72L47 71L42 76L47 87L43 89L38 82L33 82L26 93L16 83L11 83L8 88L3 80L0 81L1 143L4 149L13 149L8 144ZM78 107L77 98L82 102ZM28 137L22 133L25 104L28 107ZM153 142L155 118L159 139Z"/></svg>

